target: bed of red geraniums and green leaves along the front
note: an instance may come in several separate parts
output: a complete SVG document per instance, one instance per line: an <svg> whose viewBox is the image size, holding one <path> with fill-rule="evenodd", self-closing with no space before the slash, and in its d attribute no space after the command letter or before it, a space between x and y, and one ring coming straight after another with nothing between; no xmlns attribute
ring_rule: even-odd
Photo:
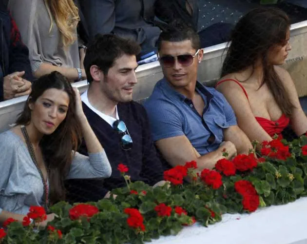
<svg viewBox="0 0 307 244"><path fill-rule="evenodd" d="M253 212L307 196L305 135L293 142L264 142L261 153L262 157L250 152L232 161L220 160L214 170L200 170L196 162L188 162L165 171L167 183L155 188L131 183L129 169L121 164L118 170L127 187L115 189L111 199L74 206L57 203L51 211L58 217L40 231L33 231L33 226L44 221L46 213L42 207L31 207L23 223L4 223L0 243L138 244L175 235L195 221L208 226L221 221L224 213ZM184 183L184 177L191 183Z"/></svg>

